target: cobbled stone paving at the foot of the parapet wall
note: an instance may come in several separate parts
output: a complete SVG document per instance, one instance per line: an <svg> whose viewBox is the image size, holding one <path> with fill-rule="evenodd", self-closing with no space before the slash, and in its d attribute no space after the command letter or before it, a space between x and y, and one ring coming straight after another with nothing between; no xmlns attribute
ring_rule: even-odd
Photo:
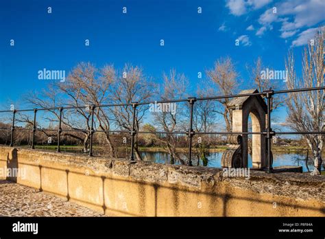
<svg viewBox="0 0 325 239"><path fill-rule="evenodd" d="M0 180L0 216L102 216L57 196Z"/></svg>

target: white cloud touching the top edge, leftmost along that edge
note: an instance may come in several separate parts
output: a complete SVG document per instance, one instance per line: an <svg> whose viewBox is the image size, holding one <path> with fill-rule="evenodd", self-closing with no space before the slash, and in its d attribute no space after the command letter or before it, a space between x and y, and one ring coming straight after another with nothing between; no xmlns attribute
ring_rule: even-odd
<svg viewBox="0 0 325 239"><path fill-rule="evenodd" d="M241 16L250 10L262 8L272 0L227 0L226 7L234 16Z"/></svg>

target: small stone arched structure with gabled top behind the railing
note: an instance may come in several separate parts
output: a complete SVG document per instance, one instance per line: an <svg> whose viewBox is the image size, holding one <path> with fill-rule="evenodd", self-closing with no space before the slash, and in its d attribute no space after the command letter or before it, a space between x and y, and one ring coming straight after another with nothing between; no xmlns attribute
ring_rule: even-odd
<svg viewBox="0 0 325 239"><path fill-rule="evenodd" d="M241 91L240 94L258 93L256 89ZM266 127L267 104L261 95L250 95L240 98L234 98L228 102L228 108L232 110L232 132L248 132L248 117L252 119L252 132L263 132ZM231 142L230 148L234 147ZM248 135L242 135L241 148L241 166L248 167ZM231 150L231 149L230 149ZM238 150L237 150L238 151ZM225 152L226 157L227 152ZM229 152L228 152L229 155ZM238 160L238 155L232 154L228 162ZM223 163L223 167L230 166ZM266 166L266 142L265 135L252 135L252 166L253 168L264 168Z"/></svg>

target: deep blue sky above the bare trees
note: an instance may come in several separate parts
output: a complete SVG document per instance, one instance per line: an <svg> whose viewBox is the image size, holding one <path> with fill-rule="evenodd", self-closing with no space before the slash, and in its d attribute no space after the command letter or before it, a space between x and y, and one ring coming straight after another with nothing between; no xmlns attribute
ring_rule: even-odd
<svg viewBox="0 0 325 239"><path fill-rule="evenodd" d="M248 88L245 64L258 56L265 65L284 70L292 48L300 71L302 47L324 21L324 0L1 0L0 103L9 106L27 91L46 89L48 82L38 80L40 69L69 72L82 61L97 67L141 65L156 82L163 71L175 68L194 91L198 71L230 56L242 88Z"/></svg>

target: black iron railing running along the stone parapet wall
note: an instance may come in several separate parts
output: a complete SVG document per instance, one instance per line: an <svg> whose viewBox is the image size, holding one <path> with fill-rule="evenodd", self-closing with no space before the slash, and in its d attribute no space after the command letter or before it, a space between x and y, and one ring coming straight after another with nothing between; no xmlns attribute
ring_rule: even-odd
<svg viewBox="0 0 325 239"><path fill-rule="evenodd" d="M152 104L152 102L132 102L130 104L101 104L101 105L92 105L91 106L91 129L90 129L90 144L89 144L89 156L93 156L93 134L96 132L103 132L103 133L130 133L131 135L131 153L130 153L130 160L134 160L134 136L136 134L184 134L189 137L189 161L188 165L192 165L191 157L192 157L192 138L194 135L265 135L266 142L267 142L267 165L266 165L266 172L272 172L272 160L271 160L271 145L272 145L272 137L274 135L305 135L305 134L317 134L317 135L324 135L325 131L316 131L316 132L295 132L295 131L288 131L288 132L276 132L271 128L271 102L272 97L275 94L281 93L298 93L302 91L320 91L324 90L325 87L313 87L313 88L304 88L304 89L288 89L282 91L274 91L272 89L263 91L261 93L244 93L244 94L237 94L237 95L220 95L220 96L211 96L205 98L187 98L187 99L180 99L180 100L161 100L156 101L156 103L176 103L176 102L189 102L190 106L190 119L189 119L189 130L188 131L174 131L174 132L165 132L165 131L137 131L135 127L136 122L136 107L140 105L148 105ZM202 101L202 100L219 100L225 98L240 98L245 96L251 95L263 95L267 101L267 127L262 132L195 132L193 130L193 107L195 102ZM132 106L132 129L131 130L95 130L94 127L94 111L98 107L115 107L115 106ZM32 128L32 146L31 148L34 149L35 146L35 132L39 130L36 128L36 113L38 111L53 111L58 110L60 111L59 116L59 127L58 127L58 148L57 152L60 152L60 135L63 131L65 132L78 132L78 131L87 131L87 130L62 130L62 113L65 109L86 109L88 106L69 106L69 107L52 107L52 108L40 108L40 109L23 109L23 110L16 110L13 111L0 111L0 113L11 113L12 112L12 127L11 127L11 135L10 135L10 146L14 144L14 131L15 128L15 115L17 112L27 112L27 111L34 111L34 122ZM7 129L8 130L8 129ZM19 128L19 130L27 130L26 128Z"/></svg>

